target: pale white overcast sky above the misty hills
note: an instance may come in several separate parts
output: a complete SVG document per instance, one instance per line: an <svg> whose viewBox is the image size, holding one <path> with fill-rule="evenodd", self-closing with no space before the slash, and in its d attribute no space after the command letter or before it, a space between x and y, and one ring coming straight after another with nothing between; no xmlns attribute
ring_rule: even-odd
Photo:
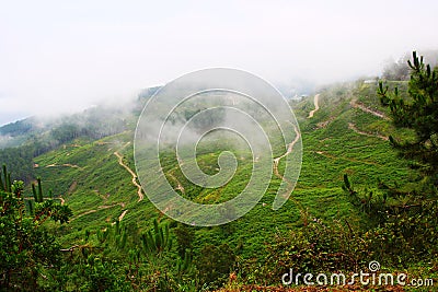
<svg viewBox="0 0 438 292"><path fill-rule="evenodd" d="M378 75L438 48L438 1L0 0L0 125L229 67L273 84Z"/></svg>

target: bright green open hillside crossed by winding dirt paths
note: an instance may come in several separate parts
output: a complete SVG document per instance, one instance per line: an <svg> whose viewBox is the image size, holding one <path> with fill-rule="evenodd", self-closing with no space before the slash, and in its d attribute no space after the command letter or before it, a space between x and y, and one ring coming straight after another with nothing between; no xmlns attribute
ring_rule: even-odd
<svg viewBox="0 0 438 292"><path fill-rule="evenodd" d="M388 141L381 138L393 131L390 122L351 103L356 101L364 107L385 113L378 105L374 92L376 85L360 83L323 90L320 93L320 109L312 118L308 118L308 114L313 109L313 96L293 104L302 132L303 162L292 199L278 211L272 210L279 184L279 179L273 176L272 186L261 202L242 219L231 223L231 234L223 237L221 227L198 229L198 247L223 241L235 246L243 241L243 255L253 257L263 252L263 243L277 229L301 224L300 209L322 219L357 213L341 188L345 173L359 185L377 184L379 178L394 182L408 179L406 163L396 160ZM355 128L349 125L355 125ZM62 230L61 241L66 245L81 241L85 230L95 232L115 222L122 214L125 224L135 224L141 230L149 227L152 218L161 218L146 196L139 201L131 174L119 165L115 154L119 153L123 163L135 171L132 131L129 129L92 142L74 140L35 157L35 172L42 177L44 187L51 188L73 210L70 224ZM199 155L198 163L215 167L216 154ZM283 166L280 163L280 170ZM215 202L240 191L245 173L251 172L243 165L235 179L227 187L215 190L191 186L174 164L164 164L163 167L169 170L168 179L175 189L181 184L186 195L192 192L192 199L203 202ZM357 213L356 223L367 222Z"/></svg>

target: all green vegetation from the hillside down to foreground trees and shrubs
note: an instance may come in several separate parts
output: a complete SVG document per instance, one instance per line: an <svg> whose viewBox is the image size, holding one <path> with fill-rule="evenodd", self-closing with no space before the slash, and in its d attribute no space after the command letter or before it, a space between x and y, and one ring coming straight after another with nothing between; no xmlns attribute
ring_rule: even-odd
<svg viewBox="0 0 438 292"><path fill-rule="evenodd" d="M130 141L138 107L105 137L76 135L76 126L55 131L62 142L30 156L37 167L27 184L2 171L1 289L281 291L289 269L353 273L376 259L384 271L436 279L437 69L416 55L410 66L410 82L359 80L321 89L312 118L313 100L291 102L304 147L291 199L272 210L280 183L273 176L261 202L223 226L184 225L147 197L140 200L127 171L135 170ZM145 91L140 101L155 90ZM186 119L195 112L180 114ZM214 144L198 149L198 164L208 174L232 147ZM239 151L237 174L218 189L191 184L172 151L160 159L177 191L215 203L247 183L251 160ZM8 155L8 162L19 157ZM284 167L280 162L279 171ZM46 186L53 195L44 195Z"/></svg>

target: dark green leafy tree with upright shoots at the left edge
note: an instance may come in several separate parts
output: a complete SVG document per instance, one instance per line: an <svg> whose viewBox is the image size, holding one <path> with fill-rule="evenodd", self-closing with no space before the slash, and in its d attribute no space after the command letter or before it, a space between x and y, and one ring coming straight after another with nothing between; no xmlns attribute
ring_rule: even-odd
<svg viewBox="0 0 438 292"><path fill-rule="evenodd" d="M60 246L43 225L47 219L68 222L71 210L53 200L35 202L26 211L23 182L7 178L0 186L0 287L36 291L42 275L60 267Z"/></svg>

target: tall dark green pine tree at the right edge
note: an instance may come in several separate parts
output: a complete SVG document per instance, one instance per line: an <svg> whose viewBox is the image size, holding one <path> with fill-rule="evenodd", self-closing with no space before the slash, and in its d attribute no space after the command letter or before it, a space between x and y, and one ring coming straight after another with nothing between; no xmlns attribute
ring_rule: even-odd
<svg viewBox="0 0 438 292"><path fill-rule="evenodd" d="M399 128L412 129L414 141L390 137L402 157L413 160L413 167L418 168L431 184L438 186L438 67L431 69L423 62L423 57L413 52L408 83L410 98L402 98L399 90L388 92L388 86L379 83L378 94L381 103L391 109L393 122Z"/></svg>

